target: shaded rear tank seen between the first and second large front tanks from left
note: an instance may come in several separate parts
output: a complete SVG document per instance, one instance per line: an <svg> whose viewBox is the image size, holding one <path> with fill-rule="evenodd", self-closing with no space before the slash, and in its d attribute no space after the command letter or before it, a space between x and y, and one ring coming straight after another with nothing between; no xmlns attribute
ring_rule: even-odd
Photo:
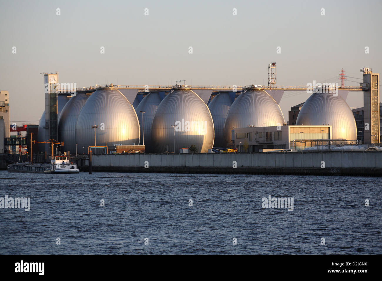
<svg viewBox="0 0 382 281"><path fill-rule="evenodd" d="M141 128L141 138L140 144L144 145L146 152L154 152L151 144L151 123L154 118L155 112L160 104L160 97L158 93L149 93L146 97L142 99L139 105L136 107L135 112L138 115L139 128ZM143 114L143 130L142 130L142 113L140 111L145 111ZM144 134L143 134L144 133Z"/></svg>

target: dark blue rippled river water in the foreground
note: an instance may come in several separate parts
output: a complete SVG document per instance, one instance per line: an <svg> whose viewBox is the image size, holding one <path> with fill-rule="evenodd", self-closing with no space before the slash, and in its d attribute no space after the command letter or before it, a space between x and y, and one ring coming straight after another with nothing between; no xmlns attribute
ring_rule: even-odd
<svg viewBox="0 0 382 281"><path fill-rule="evenodd" d="M381 186L377 177L0 171L0 197L31 197L30 211L0 209L0 254L381 254ZM293 197L294 210L263 209L268 195Z"/></svg>

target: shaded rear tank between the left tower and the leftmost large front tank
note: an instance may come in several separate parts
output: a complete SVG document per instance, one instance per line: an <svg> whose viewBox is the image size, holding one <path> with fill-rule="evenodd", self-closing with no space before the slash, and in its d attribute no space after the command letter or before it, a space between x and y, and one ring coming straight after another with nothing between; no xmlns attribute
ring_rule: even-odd
<svg viewBox="0 0 382 281"><path fill-rule="evenodd" d="M65 104L58 118L58 138L63 141L62 151L76 153L76 123L79 112L87 101L85 93L77 93ZM79 149L77 147L77 149ZM83 151L82 146L78 151Z"/></svg>

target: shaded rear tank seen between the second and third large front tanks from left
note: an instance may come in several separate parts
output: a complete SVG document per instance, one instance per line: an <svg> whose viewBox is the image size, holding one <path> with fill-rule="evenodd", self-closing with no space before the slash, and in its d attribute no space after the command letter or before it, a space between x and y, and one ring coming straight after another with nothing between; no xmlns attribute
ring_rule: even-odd
<svg viewBox="0 0 382 281"><path fill-rule="evenodd" d="M215 147L226 147L227 143L224 139L224 122L227 117L228 110L231 107L231 97L228 93L220 93L208 105L212 120L214 120L215 128Z"/></svg>

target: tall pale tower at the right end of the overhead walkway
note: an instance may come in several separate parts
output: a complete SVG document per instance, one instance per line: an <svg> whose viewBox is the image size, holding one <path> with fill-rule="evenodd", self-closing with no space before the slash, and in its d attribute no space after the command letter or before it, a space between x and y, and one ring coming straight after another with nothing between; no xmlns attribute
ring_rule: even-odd
<svg viewBox="0 0 382 281"><path fill-rule="evenodd" d="M371 68L361 68L363 73L363 123L365 143L379 143L379 74L372 73Z"/></svg>

